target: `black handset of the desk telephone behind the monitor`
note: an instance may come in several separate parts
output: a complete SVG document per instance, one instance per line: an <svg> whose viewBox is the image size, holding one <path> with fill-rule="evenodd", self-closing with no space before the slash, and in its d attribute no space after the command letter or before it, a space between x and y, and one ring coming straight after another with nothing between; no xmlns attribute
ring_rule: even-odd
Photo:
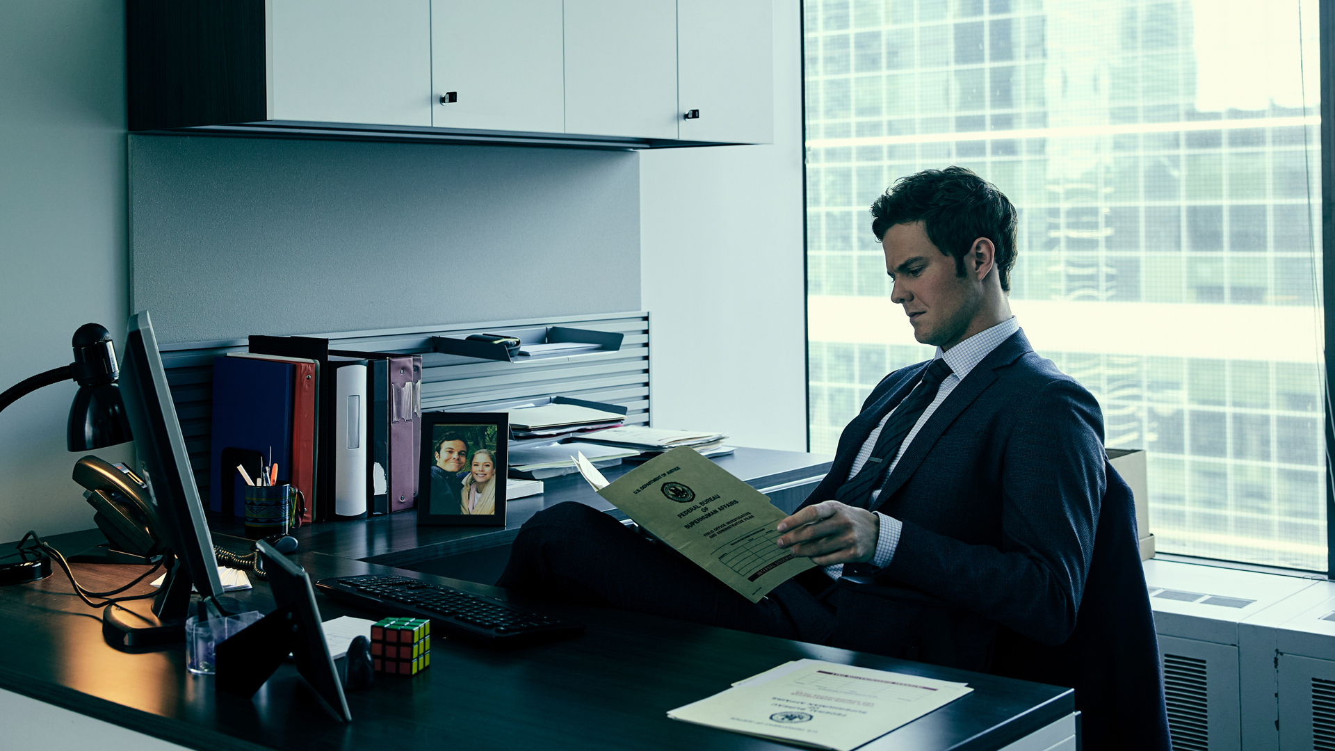
<svg viewBox="0 0 1335 751"><path fill-rule="evenodd" d="M91 454L75 464L73 477L88 489L84 498L97 510L92 520L112 549L143 557L167 551L167 536L143 480Z"/></svg>

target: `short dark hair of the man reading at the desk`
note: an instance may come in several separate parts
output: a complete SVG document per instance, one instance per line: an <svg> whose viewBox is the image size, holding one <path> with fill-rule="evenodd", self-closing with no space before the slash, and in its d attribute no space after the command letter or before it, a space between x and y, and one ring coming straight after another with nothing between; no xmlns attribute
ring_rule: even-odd
<svg viewBox="0 0 1335 751"><path fill-rule="evenodd" d="M996 247L1001 289L1011 291L1015 235L1019 216L997 187L965 167L922 170L896 180L872 204L872 234L877 242L894 224L922 222L926 237L943 255L955 257L955 273L964 275L964 258L977 238Z"/></svg>

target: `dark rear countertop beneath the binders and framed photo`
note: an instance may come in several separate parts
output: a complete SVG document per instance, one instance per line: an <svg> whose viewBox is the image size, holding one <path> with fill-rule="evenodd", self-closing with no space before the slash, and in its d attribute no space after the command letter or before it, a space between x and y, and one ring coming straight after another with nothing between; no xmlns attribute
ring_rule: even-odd
<svg viewBox="0 0 1335 751"><path fill-rule="evenodd" d="M758 489L773 488L824 476L830 457L770 449L737 449L734 454L714 461ZM638 464L622 464L603 472L615 480ZM458 553L509 545L519 527L539 510L562 501L587 504L617 518L626 514L602 500L578 474L543 480L545 492L506 504L505 527L418 527L417 512L400 512L355 521L326 521L292 532L303 551L355 559L382 565L411 565ZM215 532L244 536L242 520L210 513Z"/></svg>

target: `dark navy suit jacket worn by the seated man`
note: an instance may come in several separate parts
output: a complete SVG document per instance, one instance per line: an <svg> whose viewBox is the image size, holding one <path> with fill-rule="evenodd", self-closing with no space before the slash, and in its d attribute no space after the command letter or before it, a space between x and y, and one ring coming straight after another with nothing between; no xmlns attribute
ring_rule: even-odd
<svg viewBox="0 0 1335 751"><path fill-rule="evenodd" d="M926 365L900 369L877 385L840 437L834 464L806 504L834 497L868 434L904 400ZM1024 334L1016 333L937 408L886 477L874 506L902 521L904 529L889 565L868 573L945 607L842 589L832 643L980 671L993 668L995 651L1003 649L1008 652L997 655L996 663L1007 665L1007 672L1013 672L1021 651L1032 656L1036 649L1065 644L1076 631L1077 613L1089 609L1081 608L1081 597L1096 531L1103 532L1107 482L1103 417L1093 396L1037 357ZM1124 486L1120 478L1113 482ZM1119 504L1117 525L1109 531L1120 529L1131 513L1128 502ZM1111 536L1109 548L1135 545L1135 520L1129 518L1129 535L1100 533L1099 541ZM1135 675L1151 696L1147 706L1160 707L1157 718L1163 719L1159 655L1139 553L1119 549L1108 560L1116 571L1109 573L1103 565L1096 572L1125 583L1128 592L1139 588L1144 612L1136 611L1143 617ZM1076 702L1088 719L1097 715L1095 724L1103 728L1107 714L1097 702L1089 703L1095 699L1087 688ZM1137 719L1149 726L1139 747L1167 747L1165 722Z"/></svg>

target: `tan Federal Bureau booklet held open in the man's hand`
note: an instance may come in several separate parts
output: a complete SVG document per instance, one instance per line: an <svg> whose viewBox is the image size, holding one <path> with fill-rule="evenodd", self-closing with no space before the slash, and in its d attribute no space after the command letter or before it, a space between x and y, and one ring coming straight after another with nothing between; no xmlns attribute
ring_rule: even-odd
<svg viewBox="0 0 1335 751"><path fill-rule="evenodd" d="M696 449L673 449L611 484L583 454L575 466L635 524L752 603L816 567L778 547L774 528L786 513Z"/></svg>

